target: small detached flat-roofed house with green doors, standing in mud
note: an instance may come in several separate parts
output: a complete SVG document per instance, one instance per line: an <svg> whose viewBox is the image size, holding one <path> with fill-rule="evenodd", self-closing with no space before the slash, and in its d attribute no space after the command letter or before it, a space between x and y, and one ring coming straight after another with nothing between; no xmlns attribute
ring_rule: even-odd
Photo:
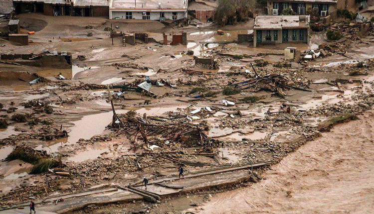
<svg viewBox="0 0 374 214"><path fill-rule="evenodd" d="M253 27L253 47L284 42L309 44L309 21L309 15L257 16Z"/></svg>

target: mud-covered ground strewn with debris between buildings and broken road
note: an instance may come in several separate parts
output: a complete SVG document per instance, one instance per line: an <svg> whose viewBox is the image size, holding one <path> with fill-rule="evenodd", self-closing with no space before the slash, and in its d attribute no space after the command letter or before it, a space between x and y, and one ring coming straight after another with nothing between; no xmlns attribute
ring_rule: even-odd
<svg viewBox="0 0 374 214"><path fill-rule="evenodd" d="M185 166L187 172L263 160L275 163L318 136L323 121L343 113L362 114L373 105L373 35L355 37L352 44L344 46L347 53L336 51L340 54L276 67L278 62L284 62L282 54L287 44L253 48L249 43L202 47L198 43L234 41L237 34L250 33L253 20L220 28L210 23L178 27L157 21L50 17L34 13L21 14L19 19L23 32L35 31L29 37L32 43L14 46L2 41L5 46L0 47L0 53L36 55L44 50L66 51L72 54L72 66L63 60L14 59L6 61L10 64L0 64L3 106L0 116L8 123L7 128L0 129L0 159L4 160L15 146L25 145L61 158L64 164L61 170L72 176L29 175L32 168L29 163L1 162L0 203L5 207L30 196L71 193L110 183L126 186L143 176L152 179L177 174L178 165L171 158L198 163L198 166ZM116 37L112 45L109 31L104 30L111 24L125 33L149 32L157 41L162 41L162 33L184 31L188 43L171 46L138 41L135 46L124 47L122 37ZM223 35L217 34L218 29L223 30ZM92 36L87 36L88 33ZM314 33L310 46L298 43L292 46L304 52L320 43L333 44L324 37L323 33ZM187 55L188 50L193 55ZM77 59L82 55L84 60ZM197 66L195 56L213 56L218 67ZM224 95L227 86L256 77L250 63L257 75L279 75L274 78L291 87L269 91L273 90L273 83L260 82L237 94ZM36 78L31 75L34 73L42 77L42 82L30 85ZM59 80L59 74L66 79ZM165 84L152 85L152 96L134 91L121 94L120 89L113 88L134 87L145 76L154 83ZM183 125L159 134L153 134L155 130L147 132L157 147L146 143L140 131L126 132L126 125L108 126L113 113L107 86L111 88L118 114L135 110L135 118L143 118L149 124L193 124L215 142L212 148L215 157L199 155L206 151L186 146L186 140L166 137L187 132ZM223 100L235 105L225 106ZM17 119L15 115L19 114L25 115L25 119ZM128 122L125 116L120 119L120 123ZM67 131L68 137L61 137L62 131ZM164 155L162 152L174 154L168 160L160 157ZM210 199L208 193L202 194L193 199L198 203ZM142 207L151 207L154 213L184 212L196 206L191 201L185 196L163 202L159 208L134 204L130 209L128 205L118 205L95 207L88 212L115 213L121 209L128 212Z"/></svg>

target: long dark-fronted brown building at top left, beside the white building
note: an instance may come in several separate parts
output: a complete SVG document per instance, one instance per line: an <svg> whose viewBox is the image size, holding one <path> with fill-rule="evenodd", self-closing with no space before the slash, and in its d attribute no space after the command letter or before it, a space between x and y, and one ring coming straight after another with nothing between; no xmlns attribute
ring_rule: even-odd
<svg viewBox="0 0 374 214"><path fill-rule="evenodd" d="M109 0L13 0L16 13L109 17Z"/></svg>

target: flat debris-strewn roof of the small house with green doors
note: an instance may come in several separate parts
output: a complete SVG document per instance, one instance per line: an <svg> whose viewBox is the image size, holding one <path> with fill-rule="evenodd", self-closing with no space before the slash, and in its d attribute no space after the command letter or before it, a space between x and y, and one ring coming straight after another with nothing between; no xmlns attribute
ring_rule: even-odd
<svg viewBox="0 0 374 214"><path fill-rule="evenodd" d="M309 20L309 15L258 15L256 16L253 29L281 30L309 28Z"/></svg>

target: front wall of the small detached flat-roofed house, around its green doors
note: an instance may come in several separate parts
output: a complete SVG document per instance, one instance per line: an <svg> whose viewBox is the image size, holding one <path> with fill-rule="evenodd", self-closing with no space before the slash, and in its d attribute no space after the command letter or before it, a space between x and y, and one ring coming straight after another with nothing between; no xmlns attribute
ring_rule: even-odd
<svg viewBox="0 0 374 214"><path fill-rule="evenodd" d="M305 42L309 44L309 29L296 29L296 40L293 40L293 29L287 29L288 30L288 42ZM304 31L304 39L300 40L300 31ZM257 42L257 34L259 34L258 31L261 31L261 44L278 44L283 43L283 30L277 30L278 32L278 40L274 40L274 31L270 31L270 40L266 40L267 31L268 30L254 30L253 32L253 47L256 47L259 43Z"/></svg>

